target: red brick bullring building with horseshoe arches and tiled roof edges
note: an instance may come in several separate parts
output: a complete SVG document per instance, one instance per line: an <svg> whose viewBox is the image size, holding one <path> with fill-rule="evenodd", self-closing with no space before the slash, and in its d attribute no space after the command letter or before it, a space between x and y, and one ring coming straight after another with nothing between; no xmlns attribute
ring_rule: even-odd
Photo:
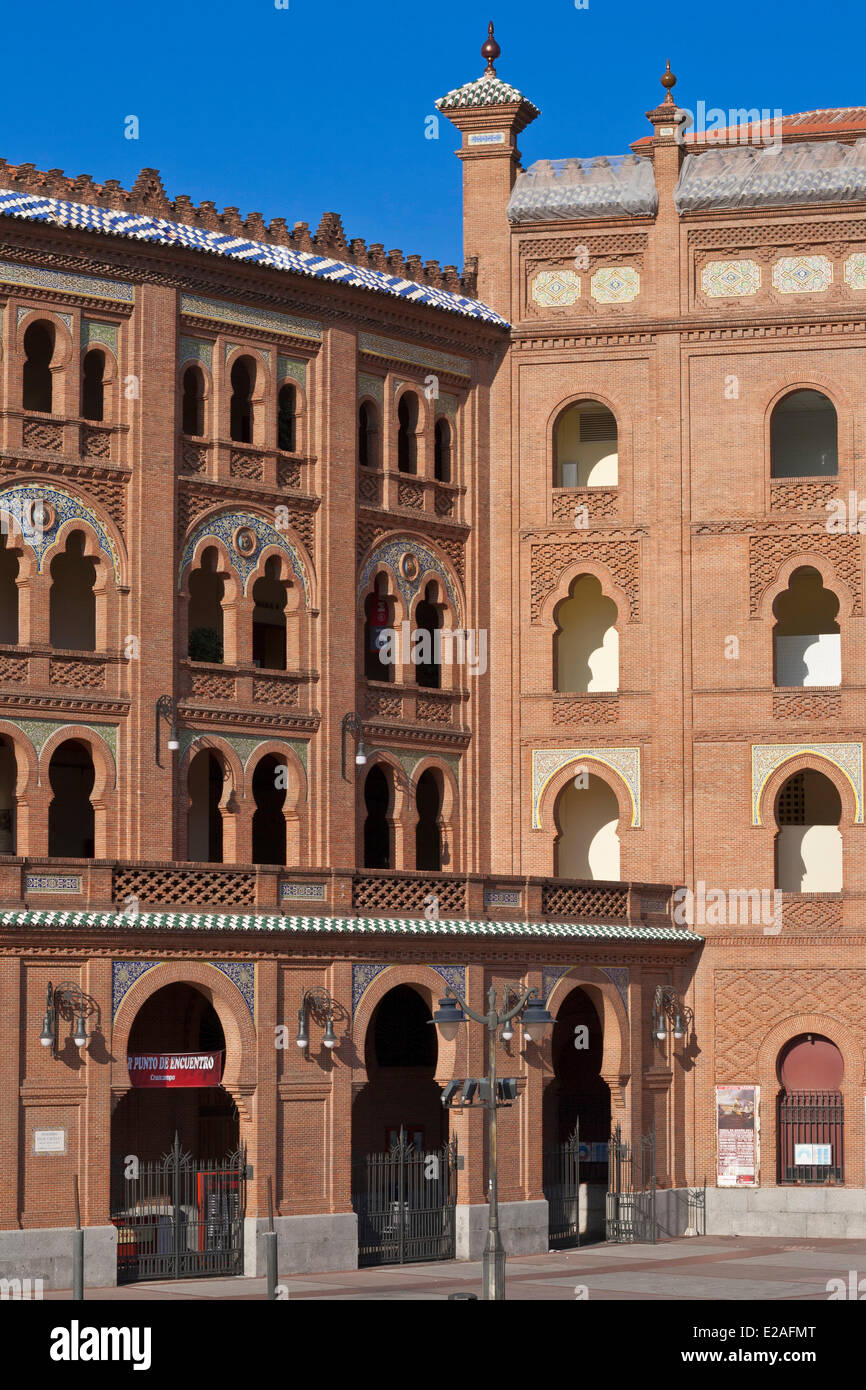
<svg viewBox="0 0 866 1390"><path fill-rule="evenodd" d="M78 1175L111 1282L175 1131L245 1145L250 1272L268 1179L281 1268L363 1258L400 1127L477 1252L446 987L556 1019L498 1062L509 1248L575 1122L584 1229L619 1125L664 1230L706 1179L709 1230L862 1233L866 111L683 138L666 78L631 153L523 171L484 57L461 277L0 165L13 1275L68 1279Z"/></svg>

